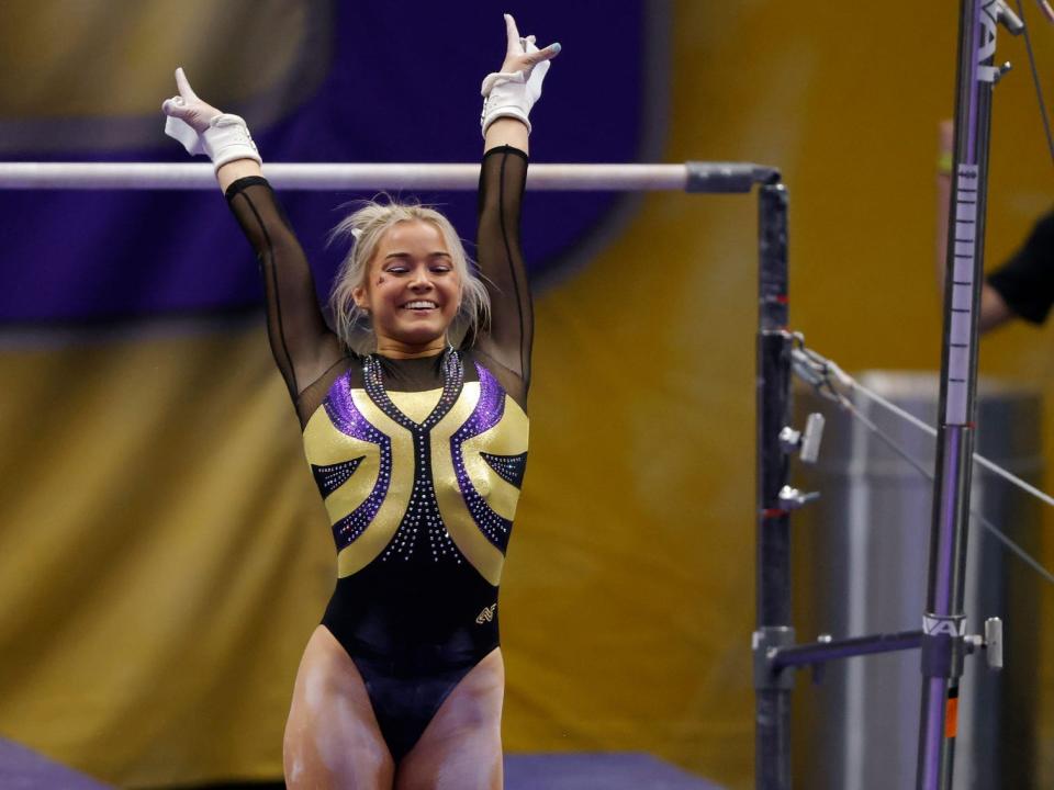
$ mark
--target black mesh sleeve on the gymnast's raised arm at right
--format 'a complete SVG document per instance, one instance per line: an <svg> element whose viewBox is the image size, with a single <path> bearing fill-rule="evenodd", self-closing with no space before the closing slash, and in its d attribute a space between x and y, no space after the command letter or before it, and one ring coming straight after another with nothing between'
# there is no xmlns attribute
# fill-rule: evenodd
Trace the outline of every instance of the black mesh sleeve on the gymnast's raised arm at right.
<svg viewBox="0 0 1054 790"><path fill-rule="evenodd" d="M476 349L523 382L530 383L534 312L527 269L519 247L519 211L527 181L527 155L516 148L492 148L480 169L480 224L476 259L491 294L491 323Z"/></svg>

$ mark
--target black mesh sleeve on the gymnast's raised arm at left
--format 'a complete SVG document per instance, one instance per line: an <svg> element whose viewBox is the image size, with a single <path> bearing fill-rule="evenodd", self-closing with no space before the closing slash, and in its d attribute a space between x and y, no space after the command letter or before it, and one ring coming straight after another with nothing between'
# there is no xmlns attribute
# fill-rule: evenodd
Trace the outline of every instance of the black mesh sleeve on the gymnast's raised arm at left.
<svg viewBox="0 0 1054 790"><path fill-rule="evenodd" d="M267 296L271 351L293 403L344 353L323 319L311 267L270 184L260 177L238 179L227 204L256 250Z"/></svg>

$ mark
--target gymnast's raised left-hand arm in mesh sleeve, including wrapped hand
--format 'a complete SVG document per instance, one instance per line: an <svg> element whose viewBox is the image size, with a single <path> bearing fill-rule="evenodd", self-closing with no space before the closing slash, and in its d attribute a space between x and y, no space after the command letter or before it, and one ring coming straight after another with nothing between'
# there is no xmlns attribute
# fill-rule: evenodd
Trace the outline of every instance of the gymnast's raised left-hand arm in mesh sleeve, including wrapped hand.
<svg viewBox="0 0 1054 790"><path fill-rule="evenodd" d="M285 214L264 179L260 157L237 115L221 113L194 94L182 69L179 95L161 109L166 133L191 154L206 154L231 211L256 251L267 297L274 361L294 403L307 385L341 359L343 350L318 308L314 279Z"/></svg>

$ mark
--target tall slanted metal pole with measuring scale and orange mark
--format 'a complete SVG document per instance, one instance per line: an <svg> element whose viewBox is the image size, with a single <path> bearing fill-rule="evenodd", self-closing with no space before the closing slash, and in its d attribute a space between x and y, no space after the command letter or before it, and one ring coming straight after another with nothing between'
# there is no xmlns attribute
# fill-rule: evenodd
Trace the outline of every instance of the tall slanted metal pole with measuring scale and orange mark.
<svg viewBox="0 0 1054 790"><path fill-rule="evenodd" d="M916 775L919 790L950 788L955 756L958 679L966 635L963 596L977 384L977 307L985 242L991 88L1000 74L993 67L1000 5L998 0L963 0L960 11L938 475L922 618L922 708Z"/></svg>

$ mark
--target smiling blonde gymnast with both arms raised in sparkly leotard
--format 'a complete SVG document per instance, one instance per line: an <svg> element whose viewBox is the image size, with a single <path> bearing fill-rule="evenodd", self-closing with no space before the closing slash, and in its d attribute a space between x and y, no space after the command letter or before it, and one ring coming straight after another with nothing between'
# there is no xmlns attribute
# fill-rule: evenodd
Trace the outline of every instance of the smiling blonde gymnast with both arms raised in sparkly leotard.
<svg viewBox="0 0 1054 790"><path fill-rule="evenodd" d="M483 81L478 257L438 212L369 202L330 329L245 122L182 70L166 132L204 153L256 251L271 350L337 545L285 725L289 787L500 788L497 590L527 459L532 315L519 247L528 113L549 60L505 16ZM463 339L460 339L463 337Z"/></svg>

